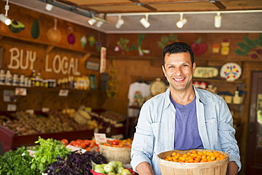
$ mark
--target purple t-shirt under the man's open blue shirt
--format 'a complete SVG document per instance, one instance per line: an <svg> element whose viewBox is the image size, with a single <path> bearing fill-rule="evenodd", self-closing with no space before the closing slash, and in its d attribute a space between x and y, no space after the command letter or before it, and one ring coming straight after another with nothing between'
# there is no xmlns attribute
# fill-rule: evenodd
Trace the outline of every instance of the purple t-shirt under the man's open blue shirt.
<svg viewBox="0 0 262 175"><path fill-rule="evenodd" d="M176 108L175 142L174 149L203 149L203 143L198 132L195 99L186 106L173 101Z"/></svg>

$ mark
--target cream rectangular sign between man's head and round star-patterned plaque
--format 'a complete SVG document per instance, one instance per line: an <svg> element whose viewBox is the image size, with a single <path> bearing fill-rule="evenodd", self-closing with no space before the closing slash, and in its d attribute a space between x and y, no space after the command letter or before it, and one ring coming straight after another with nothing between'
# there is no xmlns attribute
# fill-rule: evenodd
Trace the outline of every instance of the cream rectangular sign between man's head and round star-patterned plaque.
<svg viewBox="0 0 262 175"><path fill-rule="evenodd" d="M218 76L219 70L217 67L196 67L194 78L215 78Z"/></svg>

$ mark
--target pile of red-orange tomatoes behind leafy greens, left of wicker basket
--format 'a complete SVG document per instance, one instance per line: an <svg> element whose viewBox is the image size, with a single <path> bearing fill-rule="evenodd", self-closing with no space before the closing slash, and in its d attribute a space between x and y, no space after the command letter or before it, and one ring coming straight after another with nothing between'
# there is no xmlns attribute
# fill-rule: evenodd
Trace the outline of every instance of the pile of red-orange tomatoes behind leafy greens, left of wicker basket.
<svg viewBox="0 0 262 175"><path fill-rule="evenodd" d="M98 145L96 145L96 140L72 140L70 142L68 142L67 139L62 139L61 142L64 144L64 146L67 145L72 145L74 147L80 147L81 149L86 149L86 151L91 151L92 148L94 147L98 147Z"/></svg>

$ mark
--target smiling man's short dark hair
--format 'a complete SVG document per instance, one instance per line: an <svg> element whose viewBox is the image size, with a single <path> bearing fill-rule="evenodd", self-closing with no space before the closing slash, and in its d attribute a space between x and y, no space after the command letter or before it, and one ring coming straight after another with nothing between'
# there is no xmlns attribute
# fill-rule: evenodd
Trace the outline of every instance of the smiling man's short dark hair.
<svg viewBox="0 0 262 175"><path fill-rule="evenodd" d="M166 47L164 47L163 55L162 55L163 66L165 65L166 53L171 55L173 53L183 53L183 52L190 53L190 60L193 65L193 63L195 62L195 58L194 58L193 50L191 49L190 45L188 45L187 43L183 43L183 42L175 42L175 43L171 43L170 45L166 45Z"/></svg>

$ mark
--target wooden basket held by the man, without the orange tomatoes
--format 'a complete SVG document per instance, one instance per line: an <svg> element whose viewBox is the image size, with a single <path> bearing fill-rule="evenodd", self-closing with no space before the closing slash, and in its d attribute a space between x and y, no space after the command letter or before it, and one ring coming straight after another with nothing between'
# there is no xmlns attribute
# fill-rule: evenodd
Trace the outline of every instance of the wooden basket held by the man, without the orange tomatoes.
<svg viewBox="0 0 262 175"><path fill-rule="evenodd" d="M220 152L226 158L222 160L217 160L214 162L200 162L200 163L181 163L181 162L169 162L164 160L163 158L171 155L172 152L179 152L180 154L185 154L186 152L191 152L190 150L171 150L168 152L161 152L158 154L159 158L159 166L161 169L162 175L225 175L227 173L227 164L229 162L229 154L227 152ZM204 150L207 152L215 152L215 150L211 149L195 149L198 152L203 152Z"/></svg>

